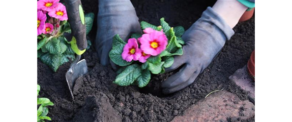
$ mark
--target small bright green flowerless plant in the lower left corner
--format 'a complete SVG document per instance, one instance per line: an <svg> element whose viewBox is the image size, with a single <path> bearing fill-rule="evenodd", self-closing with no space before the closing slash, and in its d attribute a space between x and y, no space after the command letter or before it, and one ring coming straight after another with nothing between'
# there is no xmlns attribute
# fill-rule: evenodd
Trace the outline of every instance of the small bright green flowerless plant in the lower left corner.
<svg viewBox="0 0 292 122"><path fill-rule="evenodd" d="M40 85L38 85L38 96L40 93L41 87ZM47 116L47 114L49 113L49 109L47 108L47 106L53 106L54 103L52 103L48 98L38 98L38 102L37 102L37 106L38 108L38 122L44 122L45 120L51 120L51 118L49 116Z"/></svg>

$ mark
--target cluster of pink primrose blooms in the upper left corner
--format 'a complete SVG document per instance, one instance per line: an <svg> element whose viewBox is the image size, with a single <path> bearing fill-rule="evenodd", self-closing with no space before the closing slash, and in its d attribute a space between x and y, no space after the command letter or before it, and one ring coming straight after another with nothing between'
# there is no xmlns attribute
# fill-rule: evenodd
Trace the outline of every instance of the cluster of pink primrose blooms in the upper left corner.
<svg viewBox="0 0 292 122"><path fill-rule="evenodd" d="M60 21L68 20L66 7L59 3L60 0L39 0L37 2L37 35L40 35L42 33L49 34L53 32L55 24L56 27L59 27ZM55 23L52 20L52 18L48 19L47 21L47 14L49 17L59 19L59 21L56 21Z"/></svg>

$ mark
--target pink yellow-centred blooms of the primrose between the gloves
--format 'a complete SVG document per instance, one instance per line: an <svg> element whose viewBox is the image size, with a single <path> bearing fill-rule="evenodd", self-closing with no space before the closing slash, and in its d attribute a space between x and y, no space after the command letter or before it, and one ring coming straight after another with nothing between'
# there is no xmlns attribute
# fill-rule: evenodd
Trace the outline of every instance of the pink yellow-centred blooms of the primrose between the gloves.
<svg viewBox="0 0 292 122"><path fill-rule="evenodd" d="M150 56L157 56L166 49L167 37L163 32L152 28L145 28L143 34L138 39L130 38L128 44L125 45L122 58L127 62L139 60L145 63ZM139 48L139 45L140 48Z"/></svg>

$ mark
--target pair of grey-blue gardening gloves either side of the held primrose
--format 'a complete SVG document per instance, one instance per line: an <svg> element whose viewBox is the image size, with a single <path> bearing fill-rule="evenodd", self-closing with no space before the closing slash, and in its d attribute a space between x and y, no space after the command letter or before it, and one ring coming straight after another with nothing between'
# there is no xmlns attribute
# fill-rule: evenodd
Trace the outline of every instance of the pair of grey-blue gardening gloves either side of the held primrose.
<svg viewBox="0 0 292 122"><path fill-rule="evenodd" d="M127 40L132 33L142 33L135 9L129 0L99 0L98 30L95 46L102 65L111 64L109 51L112 38L119 34ZM211 8L207 8L182 36L184 54L174 57L166 71L180 70L162 82L164 94L180 91L194 82L196 77L212 62L234 31Z"/></svg>

